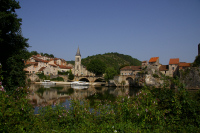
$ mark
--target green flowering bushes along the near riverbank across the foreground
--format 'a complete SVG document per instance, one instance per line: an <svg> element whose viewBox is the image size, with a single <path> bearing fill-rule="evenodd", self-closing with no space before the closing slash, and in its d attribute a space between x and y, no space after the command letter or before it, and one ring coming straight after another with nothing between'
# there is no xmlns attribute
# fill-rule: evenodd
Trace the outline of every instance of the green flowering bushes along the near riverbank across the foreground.
<svg viewBox="0 0 200 133"><path fill-rule="evenodd" d="M9 95L1 86L0 132L199 132L200 91L191 95L178 79L175 89L144 87L115 102L71 99L70 108L40 107L34 115L29 88Z"/></svg>

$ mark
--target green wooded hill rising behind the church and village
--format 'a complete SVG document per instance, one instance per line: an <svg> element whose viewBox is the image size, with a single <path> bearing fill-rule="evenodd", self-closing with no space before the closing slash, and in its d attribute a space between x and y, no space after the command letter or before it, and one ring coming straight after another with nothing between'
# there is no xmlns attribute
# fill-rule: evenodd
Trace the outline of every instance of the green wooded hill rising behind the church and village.
<svg viewBox="0 0 200 133"><path fill-rule="evenodd" d="M106 63L107 67L114 67L116 70L119 70L121 66L124 65L133 65L139 66L141 65L141 61L135 59L129 55L119 54L119 53L105 53L103 55L93 55L88 56L87 58L82 59L82 64L87 66L87 64L92 59L100 59L101 61Z"/></svg>

